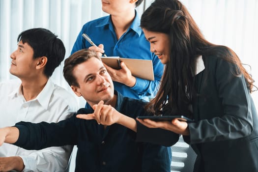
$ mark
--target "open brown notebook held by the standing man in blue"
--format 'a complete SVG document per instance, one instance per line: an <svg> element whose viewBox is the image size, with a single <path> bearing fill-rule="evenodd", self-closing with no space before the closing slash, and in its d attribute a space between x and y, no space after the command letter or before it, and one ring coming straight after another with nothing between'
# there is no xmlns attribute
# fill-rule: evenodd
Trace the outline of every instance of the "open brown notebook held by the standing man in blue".
<svg viewBox="0 0 258 172"><path fill-rule="evenodd" d="M114 69L120 69L120 62L123 61L133 76L154 81L152 60L121 57L101 57L101 59L103 63Z"/></svg>

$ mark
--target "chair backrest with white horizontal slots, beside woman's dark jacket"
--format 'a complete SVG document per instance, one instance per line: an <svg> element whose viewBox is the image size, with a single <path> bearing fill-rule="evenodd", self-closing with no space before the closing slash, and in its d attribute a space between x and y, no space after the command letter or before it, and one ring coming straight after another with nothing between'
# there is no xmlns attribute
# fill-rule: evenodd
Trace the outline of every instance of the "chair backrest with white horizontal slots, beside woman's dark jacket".
<svg viewBox="0 0 258 172"><path fill-rule="evenodd" d="M180 136L177 143L171 146L171 172L193 172L197 154Z"/></svg>

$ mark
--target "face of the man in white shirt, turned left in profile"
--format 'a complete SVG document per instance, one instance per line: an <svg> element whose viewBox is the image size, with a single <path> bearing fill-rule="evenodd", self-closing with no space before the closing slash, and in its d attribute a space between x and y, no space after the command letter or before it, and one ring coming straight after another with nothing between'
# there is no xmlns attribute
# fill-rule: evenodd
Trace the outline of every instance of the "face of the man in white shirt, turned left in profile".
<svg viewBox="0 0 258 172"><path fill-rule="evenodd" d="M33 77L35 75L35 66L38 60L33 59L33 49L27 43L20 41L11 54L10 73L20 79Z"/></svg>

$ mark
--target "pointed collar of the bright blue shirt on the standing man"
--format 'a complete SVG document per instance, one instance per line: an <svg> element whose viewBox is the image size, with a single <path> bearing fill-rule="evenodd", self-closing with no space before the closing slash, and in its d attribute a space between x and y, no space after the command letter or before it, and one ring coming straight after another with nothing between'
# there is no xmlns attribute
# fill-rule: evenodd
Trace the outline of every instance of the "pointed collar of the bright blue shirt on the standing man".
<svg viewBox="0 0 258 172"><path fill-rule="evenodd" d="M109 15L109 17L106 17L102 22L100 22L98 25L96 25L96 27L103 27L106 25L109 25L110 28L113 28L113 24L111 21L111 15ZM139 36L141 36L141 34L142 34L142 29L140 27L140 18L139 18L139 15L136 10L135 10L135 18L129 29L134 30Z"/></svg>

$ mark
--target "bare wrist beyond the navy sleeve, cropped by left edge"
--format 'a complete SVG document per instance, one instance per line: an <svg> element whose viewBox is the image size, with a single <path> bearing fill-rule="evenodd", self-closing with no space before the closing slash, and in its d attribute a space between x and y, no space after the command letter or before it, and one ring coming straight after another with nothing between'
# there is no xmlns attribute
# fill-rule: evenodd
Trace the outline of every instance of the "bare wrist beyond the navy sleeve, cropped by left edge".
<svg viewBox="0 0 258 172"><path fill-rule="evenodd" d="M4 143L15 143L19 138L19 130L16 127L4 127L0 129L0 145Z"/></svg>

